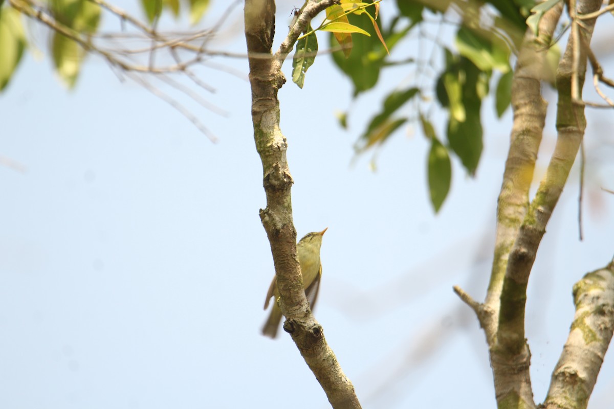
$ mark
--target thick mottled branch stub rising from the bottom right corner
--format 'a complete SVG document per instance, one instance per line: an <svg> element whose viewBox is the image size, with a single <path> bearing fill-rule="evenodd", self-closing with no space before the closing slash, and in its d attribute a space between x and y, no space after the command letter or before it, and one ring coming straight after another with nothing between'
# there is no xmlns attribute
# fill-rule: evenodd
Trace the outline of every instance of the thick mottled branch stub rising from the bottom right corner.
<svg viewBox="0 0 614 409"><path fill-rule="evenodd" d="M547 409L586 408L614 331L614 261L573 286L569 337L552 373Z"/></svg>

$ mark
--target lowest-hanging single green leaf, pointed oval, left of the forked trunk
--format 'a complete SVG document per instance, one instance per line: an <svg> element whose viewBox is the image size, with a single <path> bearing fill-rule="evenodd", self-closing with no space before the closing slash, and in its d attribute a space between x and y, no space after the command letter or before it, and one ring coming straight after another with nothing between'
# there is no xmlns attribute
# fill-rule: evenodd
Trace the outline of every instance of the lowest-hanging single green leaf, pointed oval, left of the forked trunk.
<svg viewBox="0 0 614 409"><path fill-rule="evenodd" d="M450 190L452 166L448 150L441 145L437 137L433 137L431 141L428 164L429 191L430 202L437 213Z"/></svg>

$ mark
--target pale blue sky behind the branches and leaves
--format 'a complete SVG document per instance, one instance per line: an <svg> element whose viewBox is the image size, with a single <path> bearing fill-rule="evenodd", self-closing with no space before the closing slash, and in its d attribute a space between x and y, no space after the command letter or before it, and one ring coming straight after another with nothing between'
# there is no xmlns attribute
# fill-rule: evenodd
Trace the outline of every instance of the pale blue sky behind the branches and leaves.
<svg viewBox="0 0 614 409"><path fill-rule="evenodd" d="M293 6L278 2L276 46ZM241 17L238 7L220 48L244 52ZM46 54L44 31L33 32ZM395 53L414 50L406 41ZM214 61L247 75L243 59ZM273 262L258 218L265 196L249 83L199 70L217 92L199 91L229 118L174 93L216 134L213 144L99 58L88 59L73 91L50 67L46 55L26 54L0 95L0 155L26 168L0 166L0 407L328 407L290 337L260 335ZM398 132L379 151L376 172L370 154L350 165L374 107L411 72L386 72L352 105L349 132L333 114L347 109L351 87L328 56L316 59L303 90L289 82L279 93L297 233L328 227L316 317L363 407L494 407L483 334L451 287L483 299L511 116L497 121L492 101L484 103L476 178L455 161L450 196L434 216L418 130ZM540 172L553 147L553 109ZM573 283L614 253L614 196L599 190L614 189L605 115L589 114L585 241L577 239L575 167L530 281L539 402L572 319ZM608 355L589 408L609 407L613 385Z"/></svg>

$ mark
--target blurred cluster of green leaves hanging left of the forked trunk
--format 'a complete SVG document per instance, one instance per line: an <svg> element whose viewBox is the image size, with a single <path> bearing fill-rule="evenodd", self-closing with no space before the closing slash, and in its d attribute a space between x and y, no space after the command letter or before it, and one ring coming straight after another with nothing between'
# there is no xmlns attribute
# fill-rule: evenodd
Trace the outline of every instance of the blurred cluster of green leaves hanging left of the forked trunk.
<svg viewBox="0 0 614 409"><path fill-rule="evenodd" d="M523 40L527 17L532 11L543 15L546 7L552 7L556 1L548 1L550 4L539 10L532 10L534 3L534 0L396 0L397 14L382 29L391 50L410 36L427 41L424 32L433 34L433 23L437 21L446 25L456 22L456 35L451 47L445 47L443 39L430 39L434 47L443 52L436 64L424 61L423 57L406 55L401 61L395 61L394 57L383 52L383 47L373 36L356 38L354 51L348 59L343 58L341 52L333 53L336 66L352 82L355 98L373 88L387 66L407 64L415 67L417 73L409 88L407 78L402 78L403 82L384 97L380 112L371 118L367 129L360 134L355 144L356 153L381 147L403 124L421 123L422 131L431 141L426 152L428 184L430 199L437 212L449 191L450 158L456 158L468 175L475 175L478 169L483 150L481 105L484 98L492 90L494 112L498 117L510 106L510 61ZM392 7L386 7L386 10L392 12ZM541 15L531 17L537 24ZM349 22L370 30L370 22L361 16L351 15ZM430 28L425 26L429 24ZM333 39L330 40L333 45ZM553 53L553 58L556 57ZM437 69L438 74L426 77L426 64L431 71ZM495 84L491 84L493 80ZM435 99L431 97L433 94ZM441 139L424 116L424 112L433 112L432 101L438 102L447 117L441 129L445 137ZM351 115L343 113L339 117L343 118L344 127L348 126Z"/></svg>

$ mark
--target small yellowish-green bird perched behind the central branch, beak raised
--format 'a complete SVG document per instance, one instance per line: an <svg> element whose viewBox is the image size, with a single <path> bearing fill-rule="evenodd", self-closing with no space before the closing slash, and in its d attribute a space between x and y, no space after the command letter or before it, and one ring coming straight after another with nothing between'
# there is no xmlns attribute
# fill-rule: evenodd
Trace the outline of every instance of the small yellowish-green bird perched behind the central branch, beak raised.
<svg viewBox="0 0 614 409"><path fill-rule="evenodd" d="M322 246L322 235L327 231L308 233L297 243L298 263L301 265L303 274L303 288L305 296L309 300L311 309L316 305L317 292L320 289L320 277L322 277L322 263L320 262L320 247ZM281 323L281 309L277 304L279 291L277 289L277 277L273 277L269 291L266 293L265 310L268 304L274 297L273 309L269 318L266 320L265 326L262 327L262 334L267 337L275 338Z"/></svg>

